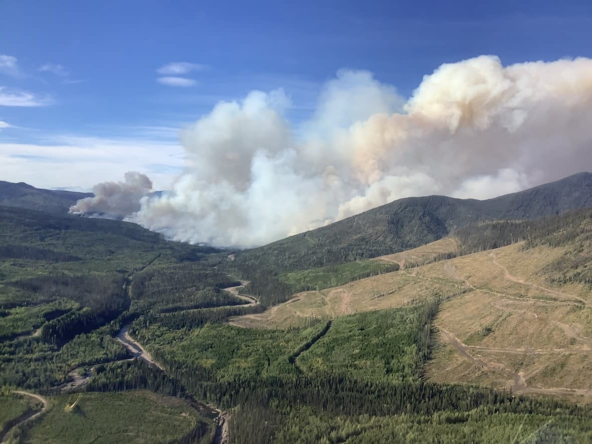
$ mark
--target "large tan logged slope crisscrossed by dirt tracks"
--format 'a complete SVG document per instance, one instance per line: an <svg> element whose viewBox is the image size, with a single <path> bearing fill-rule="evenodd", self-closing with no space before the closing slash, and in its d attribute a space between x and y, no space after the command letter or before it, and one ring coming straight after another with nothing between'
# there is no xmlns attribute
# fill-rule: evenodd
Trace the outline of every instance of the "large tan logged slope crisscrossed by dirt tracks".
<svg viewBox="0 0 592 444"><path fill-rule="evenodd" d="M436 249L441 252L441 246ZM590 402L592 292L583 284L549 284L541 272L564 252L563 247L525 250L514 244L299 293L265 313L232 323L285 327L307 316L399 307L439 295L430 379Z"/></svg>

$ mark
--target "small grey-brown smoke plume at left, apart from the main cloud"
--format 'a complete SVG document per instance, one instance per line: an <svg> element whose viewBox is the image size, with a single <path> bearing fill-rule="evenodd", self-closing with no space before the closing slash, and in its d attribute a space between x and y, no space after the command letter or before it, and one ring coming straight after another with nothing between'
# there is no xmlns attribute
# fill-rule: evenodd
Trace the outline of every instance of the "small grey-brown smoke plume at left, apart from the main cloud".
<svg viewBox="0 0 592 444"><path fill-rule="evenodd" d="M140 210L140 199L152 189L152 182L145 174L126 173L124 182L102 182L92 188L94 197L87 197L70 207L70 213L101 215L123 219Z"/></svg>

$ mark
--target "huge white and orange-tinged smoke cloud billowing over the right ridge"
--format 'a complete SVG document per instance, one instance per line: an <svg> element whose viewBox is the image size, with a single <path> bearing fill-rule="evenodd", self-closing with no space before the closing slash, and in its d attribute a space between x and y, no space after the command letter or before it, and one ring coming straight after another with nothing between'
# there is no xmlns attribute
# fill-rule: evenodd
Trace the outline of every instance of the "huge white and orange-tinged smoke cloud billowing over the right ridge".
<svg viewBox="0 0 592 444"><path fill-rule="evenodd" d="M182 133L186 167L170 193L142 198L129 220L252 246L402 197L488 198L592 167L590 59L446 64L408 101L342 70L310 121L291 126L289 106L282 91L216 105Z"/></svg>

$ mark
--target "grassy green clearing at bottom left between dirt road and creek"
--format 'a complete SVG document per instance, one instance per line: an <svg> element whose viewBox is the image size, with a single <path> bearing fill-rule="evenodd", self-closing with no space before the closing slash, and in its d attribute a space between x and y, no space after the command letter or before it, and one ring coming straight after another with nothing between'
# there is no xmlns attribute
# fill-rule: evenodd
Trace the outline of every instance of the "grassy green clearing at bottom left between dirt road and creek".
<svg viewBox="0 0 592 444"><path fill-rule="evenodd" d="M43 418L22 432L28 443L163 443L178 442L194 429L211 435L213 423L178 398L146 391L84 393L54 397ZM209 442L209 441L204 441Z"/></svg>

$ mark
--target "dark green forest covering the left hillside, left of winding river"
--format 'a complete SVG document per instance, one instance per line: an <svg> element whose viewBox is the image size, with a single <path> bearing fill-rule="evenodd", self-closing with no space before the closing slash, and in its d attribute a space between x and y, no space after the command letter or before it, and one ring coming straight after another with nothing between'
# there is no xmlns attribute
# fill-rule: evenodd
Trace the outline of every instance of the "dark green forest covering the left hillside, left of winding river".
<svg viewBox="0 0 592 444"><path fill-rule="evenodd" d="M141 314L239 305L211 247L120 221L0 207L0 385L50 390L128 357L114 339ZM237 313L238 314L238 313Z"/></svg>

